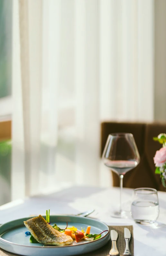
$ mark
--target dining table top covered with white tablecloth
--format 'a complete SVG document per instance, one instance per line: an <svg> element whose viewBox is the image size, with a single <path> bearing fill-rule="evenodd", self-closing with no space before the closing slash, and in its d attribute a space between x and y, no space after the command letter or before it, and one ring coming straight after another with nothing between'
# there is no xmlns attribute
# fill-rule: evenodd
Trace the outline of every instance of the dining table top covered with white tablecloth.
<svg viewBox="0 0 166 256"><path fill-rule="evenodd" d="M133 225L134 256L166 255L166 193L158 191L160 214L153 224L139 224L131 216L133 189L123 188L123 209L127 218L110 216L112 209L119 207L120 190L118 187L71 186L50 194L40 194L18 199L0 206L0 223L45 215L77 215L86 210L95 209L88 218L98 219L107 225ZM85 217L87 218L87 217Z"/></svg>

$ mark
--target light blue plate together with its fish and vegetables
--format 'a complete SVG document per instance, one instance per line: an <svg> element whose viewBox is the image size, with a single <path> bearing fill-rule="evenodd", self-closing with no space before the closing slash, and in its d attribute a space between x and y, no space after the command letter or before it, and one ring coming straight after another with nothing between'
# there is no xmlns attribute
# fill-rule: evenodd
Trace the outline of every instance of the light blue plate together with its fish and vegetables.
<svg viewBox="0 0 166 256"><path fill-rule="evenodd" d="M50 216L50 220L47 217L3 224L0 247L27 256L69 256L97 250L109 241L108 226L98 220L68 215Z"/></svg>

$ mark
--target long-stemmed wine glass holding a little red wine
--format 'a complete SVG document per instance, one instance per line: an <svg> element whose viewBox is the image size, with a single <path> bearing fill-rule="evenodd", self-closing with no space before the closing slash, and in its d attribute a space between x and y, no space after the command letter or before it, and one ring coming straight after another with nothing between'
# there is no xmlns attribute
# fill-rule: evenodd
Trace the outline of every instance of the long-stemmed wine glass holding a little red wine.
<svg viewBox="0 0 166 256"><path fill-rule="evenodd" d="M111 133L102 155L104 164L120 177L120 210L111 214L115 218L126 218L122 210L123 177L140 162L140 155L132 133Z"/></svg>

